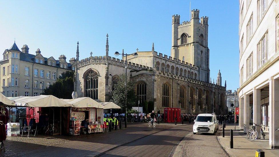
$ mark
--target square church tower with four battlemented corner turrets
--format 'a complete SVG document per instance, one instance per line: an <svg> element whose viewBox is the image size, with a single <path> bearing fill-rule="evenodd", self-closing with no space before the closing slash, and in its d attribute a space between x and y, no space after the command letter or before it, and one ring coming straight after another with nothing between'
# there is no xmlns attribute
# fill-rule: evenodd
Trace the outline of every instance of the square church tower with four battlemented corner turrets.
<svg viewBox="0 0 279 157"><path fill-rule="evenodd" d="M208 17L191 11L190 21L180 23L180 15L172 16L171 56L200 68L200 80L209 82Z"/></svg>

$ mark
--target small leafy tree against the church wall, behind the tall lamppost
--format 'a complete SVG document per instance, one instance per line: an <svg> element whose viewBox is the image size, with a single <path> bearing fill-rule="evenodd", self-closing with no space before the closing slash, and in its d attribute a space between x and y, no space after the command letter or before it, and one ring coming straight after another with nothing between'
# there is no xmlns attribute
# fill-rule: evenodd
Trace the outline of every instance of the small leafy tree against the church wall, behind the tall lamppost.
<svg viewBox="0 0 279 157"><path fill-rule="evenodd" d="M125 74L120 74L119 81L113 85L111 102L120 106L122 111L125 111ZM127 80L127 110L136 104L135 83Z"/></svg>

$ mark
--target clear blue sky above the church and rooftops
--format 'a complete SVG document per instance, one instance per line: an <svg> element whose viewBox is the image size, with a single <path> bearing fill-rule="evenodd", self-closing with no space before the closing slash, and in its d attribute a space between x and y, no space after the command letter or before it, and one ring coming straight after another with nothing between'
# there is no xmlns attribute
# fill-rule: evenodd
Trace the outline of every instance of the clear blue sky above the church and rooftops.
<svg viewBox="0 0 279 157"><path fill-rule="evenodd" d="M179 2L179 3L178 3ZM67 60L75 57L79 41L80 59L109 55L124 49L132 53L155 51L170 55L172 15L189 21L189 0L184 1L0 1L0 50L27 44L29 53L40 48L43 56ZM238 0L192 0L191 9L209 17L210 75L222 73L222 85L239 87Z"/></svg>

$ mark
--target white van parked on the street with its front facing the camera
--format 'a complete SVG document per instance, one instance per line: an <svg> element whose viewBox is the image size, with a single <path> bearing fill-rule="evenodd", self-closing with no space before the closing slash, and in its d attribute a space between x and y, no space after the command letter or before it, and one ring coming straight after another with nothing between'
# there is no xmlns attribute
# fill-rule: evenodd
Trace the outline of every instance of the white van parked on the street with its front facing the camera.
<svg viewBox="0 0 279 157"><path fill-rule="evenodd" d="M212 133L214 134L219 129L219 121L215 113L212 114L199 114L194 120L193 134L199 133Z"/></svg>

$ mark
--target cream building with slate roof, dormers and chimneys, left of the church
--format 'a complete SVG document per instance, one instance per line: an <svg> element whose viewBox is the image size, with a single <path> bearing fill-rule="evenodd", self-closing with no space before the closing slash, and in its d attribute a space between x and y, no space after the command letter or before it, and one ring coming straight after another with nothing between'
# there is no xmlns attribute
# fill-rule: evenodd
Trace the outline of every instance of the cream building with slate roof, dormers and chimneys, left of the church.
<svg viewBox="0 0 279 157"><path fill-rule="evenodd" d="M45 58L40 49L33 55L27 45L20 51L14 43L4 51L0 69L0 92L5 96L38 96L56 82L61 73L75 70L75 58L71 58L70 63L66 62L65 55L60 55L58 60Z"/></svg>

